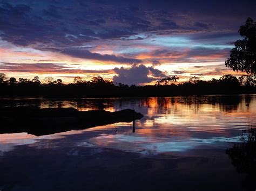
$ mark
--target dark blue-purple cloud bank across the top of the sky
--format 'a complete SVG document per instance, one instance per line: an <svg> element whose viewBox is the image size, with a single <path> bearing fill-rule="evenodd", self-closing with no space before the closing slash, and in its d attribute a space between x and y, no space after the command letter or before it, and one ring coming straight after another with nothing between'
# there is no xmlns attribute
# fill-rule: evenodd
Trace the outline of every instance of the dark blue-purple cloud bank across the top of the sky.
<svg viewBox="0 0 256 191"><path fill-rule="evenodd" d="M19 3L22 2L22 3ZM226 7L229 9L225 9ZM203 9L202 9L203 8ZM218 9L217 9L218 8ZM19 45L36 42L71 44L65 34L82 38L95 36L102 39L117 38L137 34L139 31L152 30L188 30L193 26L210 29L213 24L223 25L219 19L223 15L240 18L242 22L248 16L255 16L253 1L5 1L0 4L0 26L5 33L4 40ZM185 12L196 13L192 18L194 25ZM211 23L202 21L202 12L214 16ZM215 16L216 12L218 15ZM195 15L195 14L193 14ZM179 20L183 24L178 24ZM225 20L225 19L223 19ZM239 21L240 22L240 21ZM237 25L233 21L226 27ZM193 28L194 29L194 28ZM85 39L83 39L85 40ZM91 39L87 39L91 40ZM78 40L79 41L79 40Z"/></svg>

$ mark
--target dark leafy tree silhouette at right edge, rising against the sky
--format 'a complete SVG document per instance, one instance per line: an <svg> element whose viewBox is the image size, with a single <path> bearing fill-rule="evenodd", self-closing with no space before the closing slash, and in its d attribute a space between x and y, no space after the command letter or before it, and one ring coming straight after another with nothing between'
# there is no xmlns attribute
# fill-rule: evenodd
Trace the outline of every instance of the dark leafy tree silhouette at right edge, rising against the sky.
<svg viewBox="0 0 256 191"><path fill-rule="evenodd" d="M238 31L242 40L235 42L235 47L230 52L230 58L225 62L226 67L233 71L245 72L248 75L256 74L256 22L247 18L245 25Z"/></svg>

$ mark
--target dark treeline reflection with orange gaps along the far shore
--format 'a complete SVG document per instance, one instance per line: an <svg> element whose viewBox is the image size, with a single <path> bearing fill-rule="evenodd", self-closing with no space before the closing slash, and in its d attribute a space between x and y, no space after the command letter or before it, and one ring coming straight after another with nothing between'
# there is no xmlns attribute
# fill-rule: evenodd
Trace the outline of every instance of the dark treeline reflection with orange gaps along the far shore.
<svg viewBox="0 0 256 191"><path fill-rule="evenodd" d="M150 98L78 98L78 99L55 99L55 98L2 98L0 107L33 106L39 108L67 108L78 110L96 109L113 110L123 108L127 104L137 105L141 108L157 108L157 112L166 112L177 104L186 105L198 110L205 104L218 105L221 111L237 109L240 102L250 104L252 95L231 96L177 96L177 97L150 97Z"/></svg>

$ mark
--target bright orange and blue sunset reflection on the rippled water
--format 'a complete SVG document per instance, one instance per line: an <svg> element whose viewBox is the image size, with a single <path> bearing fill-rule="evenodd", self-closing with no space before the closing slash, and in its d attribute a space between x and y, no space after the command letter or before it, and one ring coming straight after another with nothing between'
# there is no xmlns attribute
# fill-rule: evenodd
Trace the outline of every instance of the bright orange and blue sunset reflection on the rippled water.
<svg viewBox="0 0 256 191"><path fill-rule="evenodd" d="M101 98L78 100L4 99L1 107L36 105L40 108L74 107L78 110L134 109L144 115L133 123L116 123L87 130L33 137L25 133L0 135L0 150L15 145L57 147L85 145L157 154L193 149L225 149L240 142L241 130L256 123L256 96L180 96L150 98ZM65 144L64 144L65 143ZM9 146L6 146L9 145Z"/></svg>

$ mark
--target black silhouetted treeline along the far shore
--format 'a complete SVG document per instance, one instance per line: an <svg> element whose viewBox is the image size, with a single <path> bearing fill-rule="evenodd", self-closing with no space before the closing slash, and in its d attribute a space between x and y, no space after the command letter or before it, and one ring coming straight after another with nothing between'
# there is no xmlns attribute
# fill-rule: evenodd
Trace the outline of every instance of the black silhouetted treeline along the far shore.
<svg viewBox="0 0 256 191"><path fill-rule="evenodd" d="M214 95L214 94L254 94L256 93L255 77L243 75L235 77L224 75L210 81L191 77L187 82L177 83L178 77L172 76L159 80L154 85L128 86L126 84L93 77L84 81L75 77L73 83L64 84L61 79L46 77L41 83L36 76L32 80L15 77L6 80L0 74L0 96L40 96L40 97L154 97L176 95Z"/></svg>

